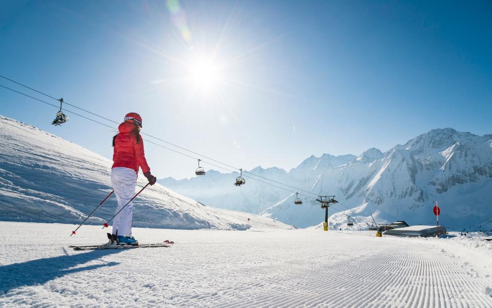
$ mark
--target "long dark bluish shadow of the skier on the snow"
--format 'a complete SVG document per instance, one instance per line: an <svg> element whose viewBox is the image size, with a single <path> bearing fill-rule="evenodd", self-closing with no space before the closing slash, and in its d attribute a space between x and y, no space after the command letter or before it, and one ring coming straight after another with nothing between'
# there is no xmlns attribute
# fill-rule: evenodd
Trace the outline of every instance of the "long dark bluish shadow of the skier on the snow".
<svg viewBox="0 0 492 308"><path fill-rule="evenodd" d="M0 266L0 295L19 286L41 284L64 275L120 264L100 260L98 264L78 266L121 251L121 249L95 250L88 253L36 259Z"/></svg>

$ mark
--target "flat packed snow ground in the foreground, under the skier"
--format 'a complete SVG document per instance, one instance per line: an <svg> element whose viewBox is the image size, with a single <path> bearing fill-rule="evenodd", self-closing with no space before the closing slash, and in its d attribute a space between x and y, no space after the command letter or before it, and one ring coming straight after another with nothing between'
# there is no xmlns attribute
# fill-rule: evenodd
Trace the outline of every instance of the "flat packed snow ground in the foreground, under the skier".
<svg viewBox="0 0 492 308"><path fill-rule="evenodd" d="M0 222L0 306L492 307L492 243L318 229L134 228L174 246L76 252L103 230Z"/></svg>

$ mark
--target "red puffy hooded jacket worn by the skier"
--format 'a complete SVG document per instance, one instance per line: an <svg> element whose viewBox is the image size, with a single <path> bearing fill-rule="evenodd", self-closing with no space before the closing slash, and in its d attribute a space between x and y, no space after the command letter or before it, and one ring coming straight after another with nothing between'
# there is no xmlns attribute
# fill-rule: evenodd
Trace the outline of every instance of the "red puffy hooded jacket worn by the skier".
<svg viewBox="0 0 492 308"><path fill-rule="evenodd" d="M127 167L138 173L139 167L142 167L142 172L150 171L145 159L144 141L139 134L140 142L136 142L135 129L135 124L129 122L123 122L118 127L120 133L114 139L113 166L111 168Z"/></svg>

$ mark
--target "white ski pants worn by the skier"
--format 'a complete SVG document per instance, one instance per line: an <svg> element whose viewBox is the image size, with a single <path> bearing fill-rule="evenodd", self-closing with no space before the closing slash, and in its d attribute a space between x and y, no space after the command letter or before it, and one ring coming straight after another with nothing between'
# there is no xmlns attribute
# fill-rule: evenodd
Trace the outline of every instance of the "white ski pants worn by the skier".
<svg viewBox="0 0 492 308"><path fill-rule="evenodd" d="M126 167L115 167L111 170L111 184L114 194L118 199L116 213L135 196L137 174L135 170ZM133 222L132 203L128 204L113 221L113 233L123 236L131 236ZM117 233L116 233L117 232Z"/></svg>

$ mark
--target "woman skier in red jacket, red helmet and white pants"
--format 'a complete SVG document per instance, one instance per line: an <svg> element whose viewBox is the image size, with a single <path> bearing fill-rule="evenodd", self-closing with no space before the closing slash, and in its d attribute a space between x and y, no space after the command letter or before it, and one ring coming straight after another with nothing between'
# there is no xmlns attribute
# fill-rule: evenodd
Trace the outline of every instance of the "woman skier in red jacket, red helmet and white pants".
<svg viewBox="0 0 492 308"><path fill-rule="evenodd" d="M150 174L150 168L145 159L144 141L140 136L142 118L138 113L130 112L125 115L125 121L118 127L119 133L113 137L113 166L111 167L111 184L118 200L116 213L135 195L135 185L139 168L144 176L154 185L157 180ZM133 221L132 204L129 203L114 218L110 243L137 244L131 236Z"/></svg>

